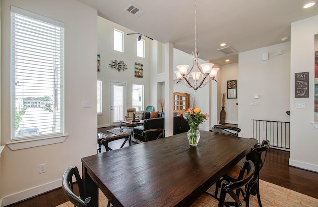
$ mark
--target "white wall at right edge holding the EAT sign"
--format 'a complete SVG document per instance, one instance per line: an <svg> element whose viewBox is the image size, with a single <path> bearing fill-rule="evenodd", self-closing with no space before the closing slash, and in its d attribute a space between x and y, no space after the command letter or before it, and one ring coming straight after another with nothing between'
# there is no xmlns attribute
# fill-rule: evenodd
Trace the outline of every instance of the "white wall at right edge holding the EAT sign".
<svg viewBox="0 0 318 207"><path fill-rule="evenodd" d="M289 164L318 172L318 129L314 121L314 36L318 34L318 16L291 24L291 153ZM294 98L294 74L309 71L309 98ZM296 108L299 102L305 108Z"/></svg>

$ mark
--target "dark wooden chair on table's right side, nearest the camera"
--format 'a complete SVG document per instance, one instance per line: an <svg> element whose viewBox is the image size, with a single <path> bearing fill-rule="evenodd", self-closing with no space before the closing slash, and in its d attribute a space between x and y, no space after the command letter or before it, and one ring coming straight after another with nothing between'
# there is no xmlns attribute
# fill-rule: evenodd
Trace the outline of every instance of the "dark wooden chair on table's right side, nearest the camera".
<svg viewBox="0 0 318 207"><path fill-rule="evenodd" d="M244 161L241 167L241 172L241 179L237 180L236 182L222 183L220 198L217 198L215 195L205 192L190 207L242 206L246 194L243 195L243 197L239 197L239 194L235 193L235 191L244 186L249 186L249 182L252 180L255 172L254 163L251 160ZM246 176L243 176L244 174ZM234 201L225 201L227 194L229 194L234 199Z"/></svg>

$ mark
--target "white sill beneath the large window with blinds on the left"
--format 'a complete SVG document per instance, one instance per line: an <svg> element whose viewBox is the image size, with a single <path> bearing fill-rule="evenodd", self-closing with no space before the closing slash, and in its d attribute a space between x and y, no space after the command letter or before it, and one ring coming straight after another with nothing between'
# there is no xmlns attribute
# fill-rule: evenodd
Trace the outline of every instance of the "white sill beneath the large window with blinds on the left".
<svg viewBox="0 0 318 207"><path fill-rule="evenodd" d="M8 142L6 143L6 145L11 150L19 150L19 149L39 147L39 146L44 146L49 144L62 143L65 141L66 138L67 138L67 135L62 135L62 136L55 136L50 138L18 140L18 141Z"/></svg>

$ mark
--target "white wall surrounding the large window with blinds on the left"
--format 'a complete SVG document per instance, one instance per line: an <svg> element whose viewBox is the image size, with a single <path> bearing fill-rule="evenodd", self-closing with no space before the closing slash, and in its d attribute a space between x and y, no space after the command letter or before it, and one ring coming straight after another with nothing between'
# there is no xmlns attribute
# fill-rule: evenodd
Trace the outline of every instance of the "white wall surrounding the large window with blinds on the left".
<svg viewBox="0 0 318 207"><path fill-rule="evenodd" d="M1 163L3 205L61 186L63 172L81 158L96 154L97 10L76 0L2 0L2 144L10 142L10 5L65 24L65 133L63 143L12 151L4 148ZM83 100L90 108L82 108ZM39 164L46 172L39 174Z"/></svg>

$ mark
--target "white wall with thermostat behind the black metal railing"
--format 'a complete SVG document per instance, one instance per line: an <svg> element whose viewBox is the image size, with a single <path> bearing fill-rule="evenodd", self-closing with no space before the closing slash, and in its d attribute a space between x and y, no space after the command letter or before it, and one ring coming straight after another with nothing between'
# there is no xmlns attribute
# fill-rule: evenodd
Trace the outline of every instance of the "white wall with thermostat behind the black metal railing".
<svg viewBox="0 0 318 207"><path fill-rule="evenodd" d="M282 55L276 55L279 50ZM263 61L265 52L269 59ZM259 99L254 99L254 95L259 95ZM289 122L286 111L290 109L290 42L239 53L238 97L243 137L252 137L252 119ZM258 106L250 106L251 102Z"/></svg>

